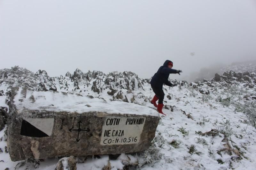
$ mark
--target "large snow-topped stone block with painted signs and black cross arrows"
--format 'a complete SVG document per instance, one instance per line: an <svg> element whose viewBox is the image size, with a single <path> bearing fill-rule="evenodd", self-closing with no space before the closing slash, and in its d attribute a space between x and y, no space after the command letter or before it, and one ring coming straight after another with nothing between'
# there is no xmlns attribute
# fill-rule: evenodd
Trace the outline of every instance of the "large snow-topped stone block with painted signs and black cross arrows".
<svg viewBox="0 0 256 170"><path fill-rule="evenodd" d="M140 152L158 122L155 109L137 104L14 87L7 145L12 161Z"/></svg>

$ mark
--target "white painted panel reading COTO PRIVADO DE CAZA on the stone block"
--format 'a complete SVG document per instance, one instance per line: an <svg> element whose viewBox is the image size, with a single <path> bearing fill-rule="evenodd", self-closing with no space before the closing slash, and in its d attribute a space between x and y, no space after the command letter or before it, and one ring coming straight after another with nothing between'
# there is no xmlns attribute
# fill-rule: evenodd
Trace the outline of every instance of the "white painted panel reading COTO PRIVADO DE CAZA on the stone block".
<svg viewBox="0 0 256 170"><path fill-rule="evenodd" d="M101 145L137 144L145 117L106 117L102 126Z"/></svg>

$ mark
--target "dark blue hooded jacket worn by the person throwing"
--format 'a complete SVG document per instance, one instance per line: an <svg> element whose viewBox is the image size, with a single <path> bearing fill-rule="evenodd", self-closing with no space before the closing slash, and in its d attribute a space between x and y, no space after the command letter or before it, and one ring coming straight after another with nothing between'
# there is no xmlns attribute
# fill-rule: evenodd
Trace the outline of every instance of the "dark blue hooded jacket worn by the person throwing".
<svg viewBox="0 0 256 170"><path fill-rule="evenodd" d="M172 86L172 83L168 81L169 74L177 73L177 70L168 68L170 60L166 60L164 64L157 70L153 78L150 81L151 86L163 88L163 84Z"/></svg>

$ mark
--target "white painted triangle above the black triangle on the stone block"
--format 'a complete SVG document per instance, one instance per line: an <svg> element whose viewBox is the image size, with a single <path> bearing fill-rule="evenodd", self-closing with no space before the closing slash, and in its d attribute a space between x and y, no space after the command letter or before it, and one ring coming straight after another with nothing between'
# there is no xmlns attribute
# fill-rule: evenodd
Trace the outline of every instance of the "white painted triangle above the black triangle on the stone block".
<svg viewBox="0 0 256 170"><path fill-rule="evenodd" d="M25 121L35 126L48 136L52 135L52 129L54 124L54 118L25 118Z"/></svg>

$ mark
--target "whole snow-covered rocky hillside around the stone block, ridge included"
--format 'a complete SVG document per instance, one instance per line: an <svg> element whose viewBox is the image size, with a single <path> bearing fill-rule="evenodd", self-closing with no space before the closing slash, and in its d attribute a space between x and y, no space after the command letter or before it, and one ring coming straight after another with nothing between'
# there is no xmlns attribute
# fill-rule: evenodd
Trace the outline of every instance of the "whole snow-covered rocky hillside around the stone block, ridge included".
<svg viewBox="0 0 256 170"><path fill-rule="evenodd" d="M170 76L171 77L171 76ZM256 165L256 74L224 72L212 80L187 83L171 80L164 86L164 109L156 136L144 152L121 155L74 157L77 169L254 169ZM0 167L2 169L54 169L58 160L28 159L12 162L6 148L8 104L12 86L36 91L59 91L91 95L153 107L149 79L135 73L100 71L49 77L20 68L0 70ZM2 121L2 123L1 123ZM69 157L71 155L67 155ZM74 155L75 156L75 155ZM63 160L62 160L63 159Z"/></svg>

